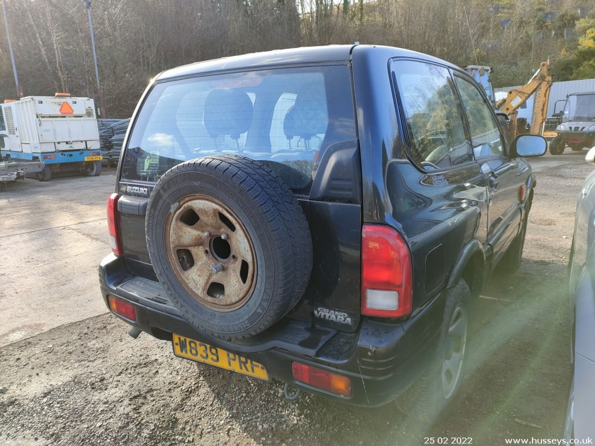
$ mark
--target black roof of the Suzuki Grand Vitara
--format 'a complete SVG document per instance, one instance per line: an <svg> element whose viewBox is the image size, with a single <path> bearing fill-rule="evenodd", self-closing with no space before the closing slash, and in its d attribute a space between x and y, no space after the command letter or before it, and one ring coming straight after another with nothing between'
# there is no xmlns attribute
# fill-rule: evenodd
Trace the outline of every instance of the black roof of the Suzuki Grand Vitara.
<svg viewBox="0 0 595 446"><path fill-rule="evenodd" d="M403 48L393 48L382 45L325 45L303 46L301 48L275 49L273 51L242 54L222 57L208 61L194 62L180 67L165 70L155 80L165 80L193 76L200 73L211 73L227 70L241 70L245 68L270 67L287 64L312 64L316 62L348 62L353 51L377 53L378 55L393 57L411 57L437 62L452 68L456 65L439 58L411 51Z"/></svg>

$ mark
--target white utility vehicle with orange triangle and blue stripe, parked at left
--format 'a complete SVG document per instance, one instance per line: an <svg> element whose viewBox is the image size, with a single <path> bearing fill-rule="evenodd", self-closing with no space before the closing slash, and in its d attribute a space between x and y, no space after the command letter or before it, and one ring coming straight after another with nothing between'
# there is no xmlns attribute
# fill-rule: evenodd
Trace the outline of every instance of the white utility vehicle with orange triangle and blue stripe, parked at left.
<svg viewBox="0 0 595 446"><path fill-rule="evenodd" d="M43 162L36 173L40 181L61 171L101 174L93 99L56 93L5 100L0 105L0 155L5 161Z"/></svg>

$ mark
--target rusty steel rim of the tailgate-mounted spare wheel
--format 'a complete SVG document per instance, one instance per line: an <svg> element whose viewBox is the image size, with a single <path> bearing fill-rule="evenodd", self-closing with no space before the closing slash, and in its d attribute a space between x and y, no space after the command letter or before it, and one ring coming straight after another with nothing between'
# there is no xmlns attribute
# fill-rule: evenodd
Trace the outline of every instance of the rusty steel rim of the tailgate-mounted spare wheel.
<svg viewBox="0 0 595 446"><path fill-rule="evenodd" d="M256 277L254 246L226 205L202 194L186 196L171 207L164 235L171 268L198 303L227 312L250 298Z"/></svg>

